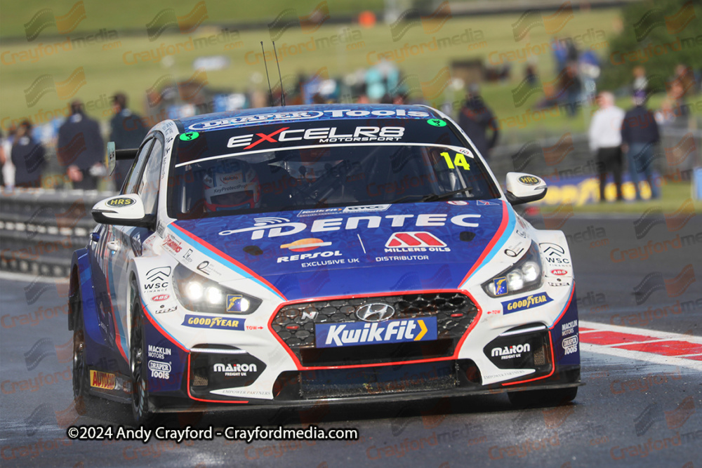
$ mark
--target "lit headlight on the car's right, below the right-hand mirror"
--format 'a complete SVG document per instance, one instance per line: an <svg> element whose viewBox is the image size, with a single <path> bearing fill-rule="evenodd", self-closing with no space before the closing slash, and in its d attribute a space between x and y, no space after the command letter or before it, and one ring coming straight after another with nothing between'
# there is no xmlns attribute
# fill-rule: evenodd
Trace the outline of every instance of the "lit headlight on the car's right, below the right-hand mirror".
<svg viewBox="0 0 702 468"><path fill-rule="evenodd" d="M536 289L541 286L541 279L541 255L536 243L531 242L515 265L484 283L483 289L491 297L501 297Z"/></svg>

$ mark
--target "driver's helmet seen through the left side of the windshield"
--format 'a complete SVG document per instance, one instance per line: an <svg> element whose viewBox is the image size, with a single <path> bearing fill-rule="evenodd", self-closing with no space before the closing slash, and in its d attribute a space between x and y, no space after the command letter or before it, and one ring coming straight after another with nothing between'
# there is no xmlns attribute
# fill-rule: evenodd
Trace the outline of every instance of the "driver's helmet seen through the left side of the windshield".
<svg viewBox="0 0 702 468"><path fill-rule="evenodd" d="M207 211L258 208L261 202L260 182L251 164L228 161L227 167L216 166L204 176L205 209Z"/></svg>

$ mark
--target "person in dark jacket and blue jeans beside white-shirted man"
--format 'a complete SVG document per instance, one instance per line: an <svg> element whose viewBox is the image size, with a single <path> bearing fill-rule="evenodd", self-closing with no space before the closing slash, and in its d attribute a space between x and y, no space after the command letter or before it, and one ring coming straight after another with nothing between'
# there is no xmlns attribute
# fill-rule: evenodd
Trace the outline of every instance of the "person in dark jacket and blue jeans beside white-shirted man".
<svg viewBox="0 0 702 468"><path fill-rule="evenodd" d="M639 173L644 173L651 187L651 198L661 196L653 178L654 145L661 139L654 114L646 108L646 92L634 91L634 107L624 114L621 124L622 149L626 153L629 175L636 189L636 199L641 200Z"/></svg>

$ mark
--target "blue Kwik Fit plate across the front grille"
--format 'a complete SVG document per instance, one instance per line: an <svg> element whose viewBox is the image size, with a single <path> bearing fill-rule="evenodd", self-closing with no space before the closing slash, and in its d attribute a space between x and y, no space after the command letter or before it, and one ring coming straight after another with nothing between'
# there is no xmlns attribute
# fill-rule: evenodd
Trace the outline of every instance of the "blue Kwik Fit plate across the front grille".
<svg viewBox="0 0 702 468"><path fill-rule="evenodd" d="M318 348L431 341L437 339L437 318L374 323L317 323L314 326L314 339Z"/></svg>

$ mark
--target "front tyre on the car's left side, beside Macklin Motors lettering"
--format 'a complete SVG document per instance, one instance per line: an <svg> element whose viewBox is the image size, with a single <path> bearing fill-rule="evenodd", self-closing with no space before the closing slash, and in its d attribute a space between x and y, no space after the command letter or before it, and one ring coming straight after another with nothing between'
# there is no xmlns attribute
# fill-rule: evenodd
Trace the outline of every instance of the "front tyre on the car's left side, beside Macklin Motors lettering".
<svg viewBox="0 0 702 468"><path fill-rule="evenodd" d="M129 340L129 365L132 377L132 414L138 426L150 426L155 418L149 403L144 314L141 310L136 281L132 279L131 283L132 327Z"/></svg>

